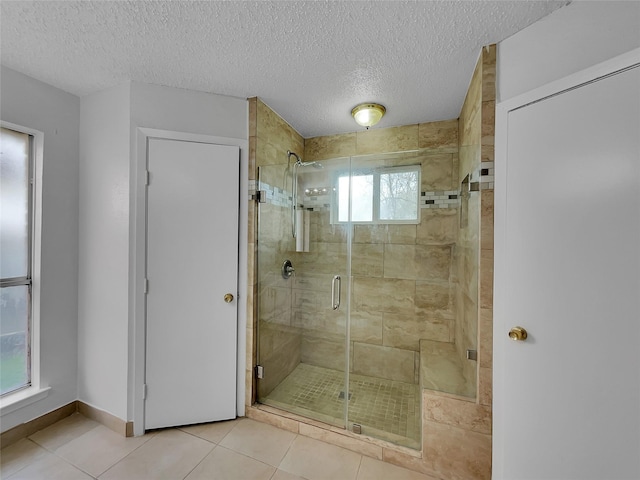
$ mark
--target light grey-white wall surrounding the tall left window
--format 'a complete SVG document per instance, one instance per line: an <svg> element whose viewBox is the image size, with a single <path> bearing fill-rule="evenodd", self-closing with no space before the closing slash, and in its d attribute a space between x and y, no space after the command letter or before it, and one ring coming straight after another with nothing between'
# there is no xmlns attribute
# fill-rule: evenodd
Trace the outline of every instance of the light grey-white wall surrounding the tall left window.
<svg viewBox="0 0 640 480"><path fill-rule="evenodd" d="M44 132L41 370L49 395L2 417L2 431L76 400L80 100L2 67L2 120Z"/></svg>

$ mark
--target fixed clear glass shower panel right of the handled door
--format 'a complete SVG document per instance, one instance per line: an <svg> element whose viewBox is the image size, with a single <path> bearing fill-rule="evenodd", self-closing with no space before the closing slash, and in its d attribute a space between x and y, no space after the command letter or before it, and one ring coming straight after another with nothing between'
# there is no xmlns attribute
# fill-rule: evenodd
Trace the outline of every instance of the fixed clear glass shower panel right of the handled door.
<svg viewBox="0 0 640 480"><path fill-rule="evenodd" d="M408 167L417 163L407 154L352 158L354 171L378 172L380 216L394 220L418 213L419 170ZM405 205L409 197L413 211ZM415 449L420 448L422 432L420 341L440 328L446 330L445 320L425 311L428 298L418 296L430 282L433 263L428 253L424 255L424 246L416 245L419 228L385 223L354 226L347 418L349 427L359 425L362 434Z"/></svg>

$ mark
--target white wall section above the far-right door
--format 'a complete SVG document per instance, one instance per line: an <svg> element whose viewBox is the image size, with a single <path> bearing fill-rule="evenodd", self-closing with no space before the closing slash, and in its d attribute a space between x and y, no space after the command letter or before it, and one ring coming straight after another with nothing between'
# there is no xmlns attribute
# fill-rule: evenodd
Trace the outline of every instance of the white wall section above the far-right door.
<svg viewBox="0 0 640 480"><path fill-rule="evenodd" d="M639 1L574 1L498 44L498 101L638 47Z"/></svg>

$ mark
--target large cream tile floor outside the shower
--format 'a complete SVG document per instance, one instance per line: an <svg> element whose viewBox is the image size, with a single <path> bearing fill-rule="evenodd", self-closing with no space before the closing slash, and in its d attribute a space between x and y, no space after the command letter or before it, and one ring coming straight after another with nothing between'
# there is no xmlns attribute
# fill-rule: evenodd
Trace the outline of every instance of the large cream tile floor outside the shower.
<svg viewBox="0 0 640 480"><path fill-rule="evenodd" d="M74 414L0 457L8 480L435 480L247 418L124 438Z"/></svg>

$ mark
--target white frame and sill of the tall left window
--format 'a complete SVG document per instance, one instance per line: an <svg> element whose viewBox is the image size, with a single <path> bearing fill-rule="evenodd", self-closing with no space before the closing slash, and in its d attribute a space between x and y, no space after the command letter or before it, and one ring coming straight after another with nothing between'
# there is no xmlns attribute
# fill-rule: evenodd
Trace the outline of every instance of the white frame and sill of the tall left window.
<svg viewBox="0 0 640 480"><path fill-rule="evenodd" d="M49 393L40 382L40 286L42 251L42 166L44 133L33 128L0 121L3 128L31 138L31 385L0 397L0 416L34 403Z"/></svg>

